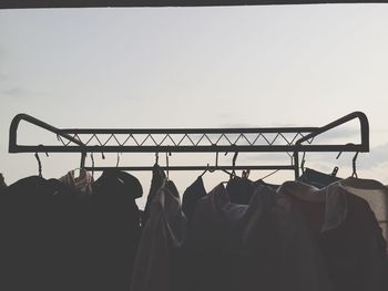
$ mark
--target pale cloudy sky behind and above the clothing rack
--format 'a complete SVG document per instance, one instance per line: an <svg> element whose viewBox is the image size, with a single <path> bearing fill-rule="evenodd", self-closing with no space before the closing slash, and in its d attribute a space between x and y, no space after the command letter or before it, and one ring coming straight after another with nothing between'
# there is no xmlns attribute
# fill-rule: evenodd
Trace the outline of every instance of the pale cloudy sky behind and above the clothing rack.
<svg viewBox="0 0 388 291"><path fill-rule="evenodd" d="M321 126L363 111L371 152L360 155L358 174L388 184L387 15L388 4L2 10L0 173L11 184L38 172L33 154L8 154L18 113L58 127L136 128ZM345 141L358 142L353 128ZM34 127L19 136L41 143ZM351 155L335 156L307 155L306 166L339 165L349 176ZM44 177L79 159L42 156ZM131 162L124 155L121 164ZM147 193L150 173L133 175ZM181 191L197 175L170 174ZM207 190L219 175L206 177Z"/></svg>

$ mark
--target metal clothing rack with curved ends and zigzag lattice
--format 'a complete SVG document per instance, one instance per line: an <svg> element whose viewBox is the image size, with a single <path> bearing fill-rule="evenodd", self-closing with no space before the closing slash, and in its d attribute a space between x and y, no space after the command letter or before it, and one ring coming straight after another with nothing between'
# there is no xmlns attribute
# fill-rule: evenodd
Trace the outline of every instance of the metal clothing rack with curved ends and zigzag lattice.
<svg viewBox="0 0 388 291"><path fill-rule="evenodd" d="M313 144L315 137L353 119L360 124L360 143ZM57 136L57 145L19 145L20 122L27 122ZM275 137L274 137L275 136ZM105 138L103 138L105 137ZM121 138L123 137L123 138ZM94 145L93 145L94 143ZM105 170L151 170L150 166L85 167L88 153L215 153L215 169L294 170L299 177L299 154L369 152L369 123L363 112L353 112L321 127L255 128L58 128L28 114L18 114L11 122L9 153L80 153L81 168ZM233 165L218 165L218 153L234 153ZM289 164L236 166L238 153L286 153ZM207 166L166 166L169 170L205 170Z"/></svg>

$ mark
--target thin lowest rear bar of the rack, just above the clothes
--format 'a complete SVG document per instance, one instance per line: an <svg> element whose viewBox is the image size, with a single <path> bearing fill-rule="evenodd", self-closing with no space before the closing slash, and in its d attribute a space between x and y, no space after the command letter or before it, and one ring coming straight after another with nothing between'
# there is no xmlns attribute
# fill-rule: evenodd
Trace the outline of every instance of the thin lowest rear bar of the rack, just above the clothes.
<svg viewBox="0 0 388 291"><path fill-rule="evenodd" d="M162 169L166 170L167 167L161 166ZM102 172L106 169L118 169L118 170L152 170L153 167L85 167L86 170ZM207 166L170 166L169 170L205 170ZM216 169L225 169L225 170L243 170L243 169L259 169L259 170L294 170L294 166L284 166L284 165L268 165L268 166L217 166Z"/></svg>

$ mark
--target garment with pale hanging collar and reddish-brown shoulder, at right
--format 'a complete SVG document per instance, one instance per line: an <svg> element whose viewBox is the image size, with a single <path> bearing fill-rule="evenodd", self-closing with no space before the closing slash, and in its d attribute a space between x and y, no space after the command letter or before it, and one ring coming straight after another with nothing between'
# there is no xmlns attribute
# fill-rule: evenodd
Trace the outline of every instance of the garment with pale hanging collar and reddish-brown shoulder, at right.
<svg viewBox="0 0 388 291"><path fill-rule="evenodd" d="M340 181L323 189L286 181L279 193L292 197L309 222L335 291L388 290L386 241L366 200Z"/></svg>

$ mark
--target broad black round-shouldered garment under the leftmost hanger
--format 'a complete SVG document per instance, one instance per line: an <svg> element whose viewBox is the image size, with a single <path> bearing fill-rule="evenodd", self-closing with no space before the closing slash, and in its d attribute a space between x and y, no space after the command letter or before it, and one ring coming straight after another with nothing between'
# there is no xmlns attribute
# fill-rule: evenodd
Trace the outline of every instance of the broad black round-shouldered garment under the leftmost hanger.
<svg viewBox="0 0 388 291"><path fill-rule="evenodd" d="M0 290L82 290L76 196L32 176L0 199Z"/></svg>

